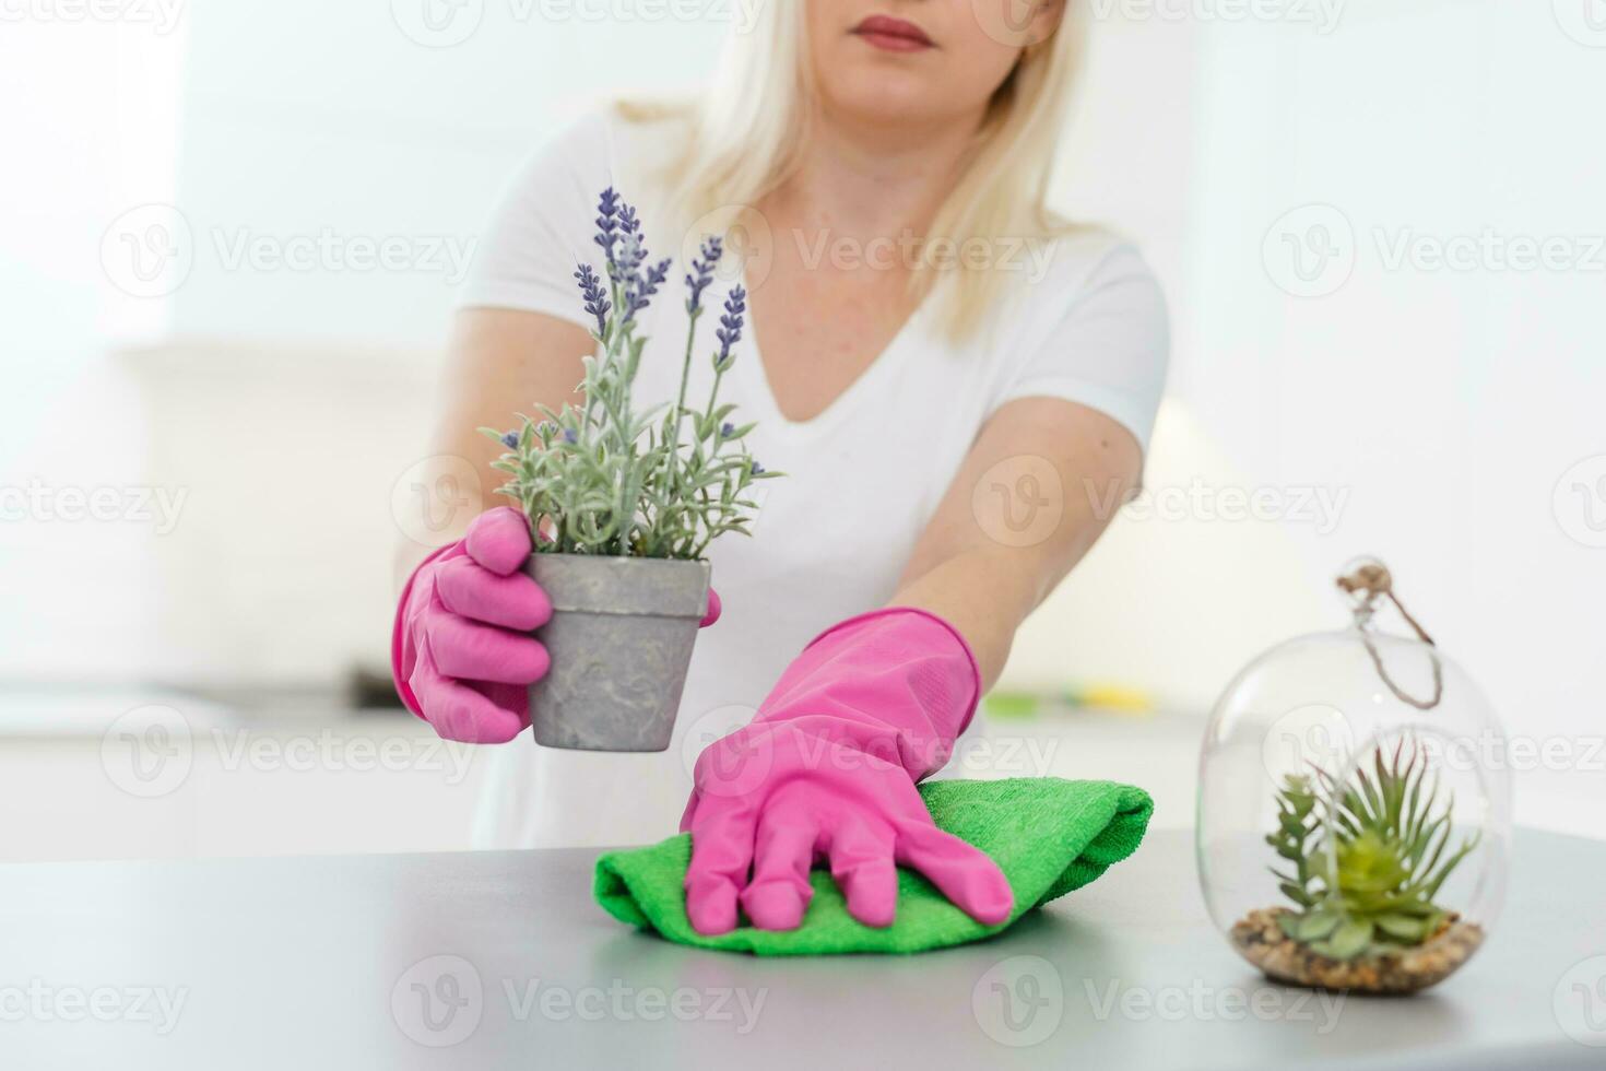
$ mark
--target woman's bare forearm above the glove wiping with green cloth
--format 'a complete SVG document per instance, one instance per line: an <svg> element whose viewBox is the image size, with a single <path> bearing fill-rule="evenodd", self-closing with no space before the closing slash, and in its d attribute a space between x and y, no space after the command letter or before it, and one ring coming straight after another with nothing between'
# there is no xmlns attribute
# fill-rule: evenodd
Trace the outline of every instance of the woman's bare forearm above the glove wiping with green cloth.
<svg viewBox="0 0 1606 1071"><path fill-rule="evenodd" d="M1015 629L1087 554L1140 469L1137 440L1108 416L1057 398L1010 401L972 445L891 605L954 625L991 687Z"/></svg>

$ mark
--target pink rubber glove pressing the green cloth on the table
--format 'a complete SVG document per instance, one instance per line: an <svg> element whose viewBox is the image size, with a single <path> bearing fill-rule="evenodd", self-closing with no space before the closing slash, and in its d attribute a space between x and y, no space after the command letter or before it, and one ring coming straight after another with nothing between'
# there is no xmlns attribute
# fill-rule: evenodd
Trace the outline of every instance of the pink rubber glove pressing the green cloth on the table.
<svg viewBox="0 0 1606 1071"><path fill-rule="evenodd" d="M984 925L1009 918L1002 872L936 829L915 790L948 763L980 690L970 647L925 610L877 610L816 637L753 723L697 758L681 819L692 835L692 926L732 930L740 902L761 930L797 928L816 859L869 926L893 922L896 864Z"/></svg>

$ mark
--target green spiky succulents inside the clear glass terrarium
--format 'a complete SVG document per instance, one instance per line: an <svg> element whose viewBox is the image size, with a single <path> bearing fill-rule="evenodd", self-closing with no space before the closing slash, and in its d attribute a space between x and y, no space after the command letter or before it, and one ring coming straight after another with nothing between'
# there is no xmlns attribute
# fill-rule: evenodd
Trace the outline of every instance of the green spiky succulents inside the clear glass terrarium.
<svg viewBox="0 0 1606 1071"><path fill-rule="evenodd" d="M1372 771L1357 766L1344 782L1320 769L1286 777L1277 832L1266 838L1293 867L1272 873L1299 907L1278 925L1335 960L1434 936L1450 915L1434 896L1479 841L1465 837L1450 849L1455 796L1441 801L1439 777L1415 743L1400 740L1392 756L1378 747Z"/></svg>

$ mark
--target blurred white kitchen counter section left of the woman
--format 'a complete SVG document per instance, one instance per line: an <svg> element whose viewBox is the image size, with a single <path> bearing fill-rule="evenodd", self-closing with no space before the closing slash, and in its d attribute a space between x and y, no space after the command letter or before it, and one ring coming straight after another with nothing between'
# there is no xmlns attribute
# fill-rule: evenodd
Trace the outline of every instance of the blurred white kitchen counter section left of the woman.
<svg viewBox="0 0 1606 1071"><path fill-rule="evenodd" d="M342 702L0 690L0 861L467 848L483 755Z"/></svg>

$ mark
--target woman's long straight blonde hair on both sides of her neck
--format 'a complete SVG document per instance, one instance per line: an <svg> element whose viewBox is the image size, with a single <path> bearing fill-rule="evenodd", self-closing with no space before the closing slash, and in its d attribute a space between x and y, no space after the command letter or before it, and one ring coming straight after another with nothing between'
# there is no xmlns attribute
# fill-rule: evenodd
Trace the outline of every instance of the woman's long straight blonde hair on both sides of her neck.
<svg viewBox="0 0 1606 1071"><path fill-rule="evenodd" d="M670 204L687 218L724 209L734 223L736 214L752 210L797 169L814 95L803 6L760 5L752 31L728 39L716 75L697 103L620 104L628 120L678 116L689 122L684 153L665 175ZM997 270L965 259L933 265L925 252L930 239L959 246L975 239L1047 239L1066 230L1047 209L1047 189L1086 43L1081 6L1066 0L1054 35L1028 45L993 95L965 170L931 220L911 273L915 300L925 299L941 278L954 278L954 292L938 310L940 323L954 337L983 321L1002 279Z"/></svg>

